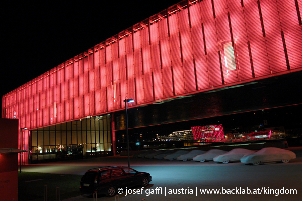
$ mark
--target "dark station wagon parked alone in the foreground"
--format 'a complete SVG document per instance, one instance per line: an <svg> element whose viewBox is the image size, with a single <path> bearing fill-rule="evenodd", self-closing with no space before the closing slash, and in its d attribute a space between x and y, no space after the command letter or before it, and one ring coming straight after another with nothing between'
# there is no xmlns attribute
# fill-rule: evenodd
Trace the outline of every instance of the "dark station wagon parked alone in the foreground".
<svg viewBox="0 0 302 201"><path fill-rule="evenodd" d="M152 177L149 173L138 172L122 166L104 166L88 170L81 178L82 194L105 194L113 197L118 188L141 185L146 187Z"/></svg>

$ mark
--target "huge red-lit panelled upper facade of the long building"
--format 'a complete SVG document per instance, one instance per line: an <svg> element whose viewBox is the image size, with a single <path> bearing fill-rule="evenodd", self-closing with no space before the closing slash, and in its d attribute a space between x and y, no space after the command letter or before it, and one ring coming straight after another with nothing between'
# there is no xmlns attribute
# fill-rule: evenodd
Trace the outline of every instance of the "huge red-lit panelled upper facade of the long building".
<svg viewBox="0 0 302 201"><path fill-rule="evenodd" d="M182 1L4 95L2 117L32 130L300 71L301 4Z"/></svg>

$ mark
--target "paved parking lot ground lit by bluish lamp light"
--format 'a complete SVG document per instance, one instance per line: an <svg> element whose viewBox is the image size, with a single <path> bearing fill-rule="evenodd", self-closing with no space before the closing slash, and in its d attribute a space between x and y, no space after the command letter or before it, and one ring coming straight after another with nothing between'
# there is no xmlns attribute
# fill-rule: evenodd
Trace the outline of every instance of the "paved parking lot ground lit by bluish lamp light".
<svg viewBox="0 0 302 201"><path fill-rule="evenodd" d="M119 195L120 200L300 200L302 192L302 147L289 148L297 158L287 164L247 165L243 163L219 164L213 161L168 161L130 158L130 166L152 175L147 189L129 194L141 187L131 188ZM84 174L86 170L104 166L127 166L126 156L83 159L26 165L22 171L55 174ZM79 181L80 184L80 181ZM55 186L54 186L55 187ZM219 190L218 194L202 190ZM296 190L297 194L290 194ZM289 194L288 194L289 193ZM295 191L292 191L295 193ZM116 197L117 198L117 197ZM72 200L93 200L92 196L78 196ZM115 200L115 197L98 197Z"/></svg>

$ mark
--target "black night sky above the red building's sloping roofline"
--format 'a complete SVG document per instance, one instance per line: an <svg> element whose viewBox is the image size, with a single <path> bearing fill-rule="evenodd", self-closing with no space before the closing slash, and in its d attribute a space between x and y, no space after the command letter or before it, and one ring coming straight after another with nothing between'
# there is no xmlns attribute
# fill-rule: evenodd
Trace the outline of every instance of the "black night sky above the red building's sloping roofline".
<svg viewBox="0 0 302 201"><path fill-rule="evenodd" d="M178 2L64 0L1 3L1 97Z"/></svg>

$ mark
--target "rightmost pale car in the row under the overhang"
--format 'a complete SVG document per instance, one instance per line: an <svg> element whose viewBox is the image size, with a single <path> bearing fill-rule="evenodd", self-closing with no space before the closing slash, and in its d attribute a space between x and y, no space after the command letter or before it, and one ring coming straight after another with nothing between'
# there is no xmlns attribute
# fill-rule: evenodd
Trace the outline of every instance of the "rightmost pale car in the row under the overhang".
<svg viewBox="0 0 302 201"><path fill-rule="evenodd" d="M296 155L292 151L276 147L266 147L254 154L244 156L240 159L242 163L251 163L259 165L260 163L282 162L288 163L289 160L295 159Z"/></svg>

